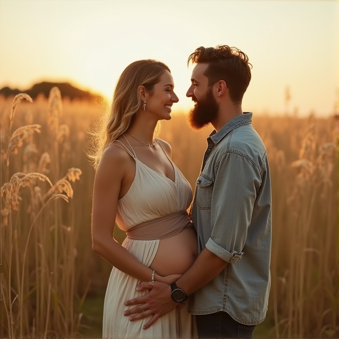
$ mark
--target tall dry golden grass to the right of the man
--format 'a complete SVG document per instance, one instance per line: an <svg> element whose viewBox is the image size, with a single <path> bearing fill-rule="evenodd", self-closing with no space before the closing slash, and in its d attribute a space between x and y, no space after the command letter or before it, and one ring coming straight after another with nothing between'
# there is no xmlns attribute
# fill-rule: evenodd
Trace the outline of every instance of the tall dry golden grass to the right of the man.
<svg viewBox="0 0 339 339"><path fill-rule="evenodd" d="M280 119L281 120L281 119ZM337 338L338 197L334 120L290 119L263 132L273 191L272 288L275 338ZM303 123L303 125L301 124ZM289 127L285 127L286 124ZM258 127L260 131L260 128ZM279 149L281 138L290 144ZM289 152L288 152L289 151Z"/></svg>

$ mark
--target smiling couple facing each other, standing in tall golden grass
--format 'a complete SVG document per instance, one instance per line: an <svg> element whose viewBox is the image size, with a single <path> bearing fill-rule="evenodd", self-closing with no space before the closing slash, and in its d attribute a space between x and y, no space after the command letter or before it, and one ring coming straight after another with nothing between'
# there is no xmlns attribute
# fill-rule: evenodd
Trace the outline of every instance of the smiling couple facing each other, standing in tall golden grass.
<svg viewBox="0 0 339 339"><path fill-rule="evenodd" d="M104 339L252 338L266 315L271 184L252 113L241 108L251 64L227 45L199 47L189 62L188 121L214 128L194 199L170 145L154 137L178 101L167 65L127 66L98 131L92 247L113 265Z"/></svg>

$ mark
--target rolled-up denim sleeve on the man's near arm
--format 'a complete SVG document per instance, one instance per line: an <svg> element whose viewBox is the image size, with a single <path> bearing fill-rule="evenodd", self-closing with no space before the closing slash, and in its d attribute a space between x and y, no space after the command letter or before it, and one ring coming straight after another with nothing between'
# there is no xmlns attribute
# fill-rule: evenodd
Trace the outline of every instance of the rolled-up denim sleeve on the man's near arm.
<svg viewBox="0 0 339 339"><path fill-rule="evenodd" d="M235 264L243 253L261 174L251 160L228 151L215 166L211 201L211 236L206 248Z"/></svg>

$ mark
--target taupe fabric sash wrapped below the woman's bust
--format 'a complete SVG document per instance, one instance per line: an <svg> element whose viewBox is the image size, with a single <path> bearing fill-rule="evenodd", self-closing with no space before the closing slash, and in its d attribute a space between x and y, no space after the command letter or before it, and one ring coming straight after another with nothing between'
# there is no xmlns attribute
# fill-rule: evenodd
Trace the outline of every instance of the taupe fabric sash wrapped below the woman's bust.
<svg viewBox="0 0 339 339"><path fill-rule="evenodd" d="M190 227L194 226L187 211L181 211L143 222L126 231L126 234L135 240L157 240L172 237Z"/></svg>

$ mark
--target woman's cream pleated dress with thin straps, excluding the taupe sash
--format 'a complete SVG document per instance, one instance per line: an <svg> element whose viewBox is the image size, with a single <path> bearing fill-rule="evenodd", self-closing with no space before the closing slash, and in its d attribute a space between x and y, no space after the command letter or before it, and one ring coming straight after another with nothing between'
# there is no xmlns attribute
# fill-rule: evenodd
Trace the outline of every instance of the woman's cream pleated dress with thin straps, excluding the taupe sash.
<svg viewBox="0 0 339 339"><path fill-rule="evenodd" d="M158 144L160 145L159 142ZM125 146L124 148L126 149ZM188 208L192 199L191 187L173 163L174 182L144 165L128 149L126 151L136 161L136 174L129 191L118 202L117 222L120 228L128 232L134 226L182 212ZM159 241L159 239L136 240L127 237L123 246L149 267L156 256ZM103 339L192 338L194 316L187 312L188 302L179 311L179 316L178 310L173 310L158 319L147 330L144 330L143 326L152 316L134 322L124 316L125 310L134 307L126 307L125 301L148 293L148 291L137 292L135 290L139 283L140 281L136 278L113 267L104 302Z"/></svg>

